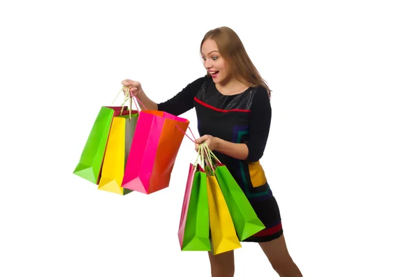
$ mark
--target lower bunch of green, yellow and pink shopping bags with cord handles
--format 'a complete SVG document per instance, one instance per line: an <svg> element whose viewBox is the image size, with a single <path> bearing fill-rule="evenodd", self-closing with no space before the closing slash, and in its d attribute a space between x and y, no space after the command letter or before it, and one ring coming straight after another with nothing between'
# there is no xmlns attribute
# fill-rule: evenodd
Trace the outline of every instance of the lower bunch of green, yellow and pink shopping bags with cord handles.
<svg viewBox="0 0 419 277"><path fill-rule="evenodd" d="M240 241L263 229L226 165L200 144L195 164L189 165L177 233L181 249L217 255L240 248Z"/></svg>

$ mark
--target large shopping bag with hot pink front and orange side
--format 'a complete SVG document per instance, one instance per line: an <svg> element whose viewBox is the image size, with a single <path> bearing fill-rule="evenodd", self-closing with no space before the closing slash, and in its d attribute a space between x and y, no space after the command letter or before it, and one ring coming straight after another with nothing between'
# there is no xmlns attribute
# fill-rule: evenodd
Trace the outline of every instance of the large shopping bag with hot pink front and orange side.
<svg viewBox="0 0 419 277"><path fill-rule="evenodd" d="M156 110L138 116L122 187L140 193L167 188L189 121Z"/></svg>

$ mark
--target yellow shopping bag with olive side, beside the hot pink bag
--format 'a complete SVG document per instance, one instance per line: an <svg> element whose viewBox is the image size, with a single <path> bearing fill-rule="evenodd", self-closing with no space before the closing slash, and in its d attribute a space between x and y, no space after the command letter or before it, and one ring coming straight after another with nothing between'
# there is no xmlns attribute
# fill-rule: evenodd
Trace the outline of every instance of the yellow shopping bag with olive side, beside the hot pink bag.
<svg viewBox="0 0 419 277"><path fill-rule="evenodd" d="M132 190L122 188L122 179L126 160L133 140L138 114L114 117L110 128L108 144L105 149L105 158L98 189L119 195L126 195Z"/></svg>

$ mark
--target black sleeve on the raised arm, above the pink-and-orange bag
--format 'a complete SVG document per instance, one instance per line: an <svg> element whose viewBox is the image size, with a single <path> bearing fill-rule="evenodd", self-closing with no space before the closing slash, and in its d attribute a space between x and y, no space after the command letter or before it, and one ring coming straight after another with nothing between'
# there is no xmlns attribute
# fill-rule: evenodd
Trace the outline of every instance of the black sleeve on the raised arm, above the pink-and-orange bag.
<svg viewBox="0 0 419 277"><path fill-rule="evenodd" d="M179 116L193 108L193 98L202 87L207 77L200 77L197 80L188 84L182 91L177 93L166 102L157 104L157 110L168 112L175 116Z"/></svg>

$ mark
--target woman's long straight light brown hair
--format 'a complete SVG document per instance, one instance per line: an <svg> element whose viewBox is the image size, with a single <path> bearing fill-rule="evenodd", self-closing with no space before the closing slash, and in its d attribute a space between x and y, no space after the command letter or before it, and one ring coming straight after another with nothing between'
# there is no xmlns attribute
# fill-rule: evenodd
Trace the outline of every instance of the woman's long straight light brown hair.
<svg viewBox="0 0 419 277"><path fill-rule="evenodd" d="M219 27L208 31L205 33L200 44L200 49L202 49L203 43L207 39L215 41L221 57L227 61L235 79L245 84L249 84L250 87L264 87L270 97L270 88L267 86L265 80L260 77L256 66L253 65L249 55L244 49L242 40L240 40L235 31L228 27Z"/></svg>

